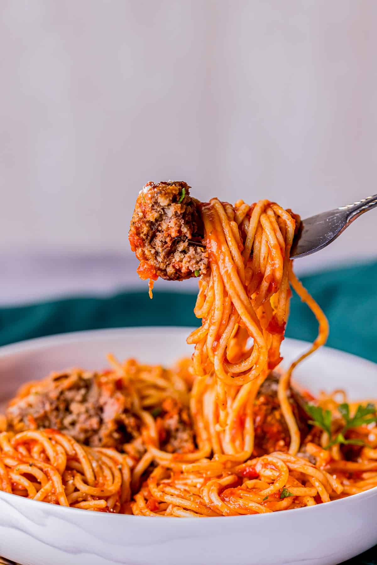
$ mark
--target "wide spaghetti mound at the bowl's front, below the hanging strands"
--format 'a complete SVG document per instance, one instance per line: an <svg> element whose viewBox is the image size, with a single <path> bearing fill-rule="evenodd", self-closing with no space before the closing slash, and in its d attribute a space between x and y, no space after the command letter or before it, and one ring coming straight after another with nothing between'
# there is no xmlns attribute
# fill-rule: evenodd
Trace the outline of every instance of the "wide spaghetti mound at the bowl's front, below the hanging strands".
<svg viewBox="0 0 377 565"><path fill-rule="evenodd" d="M252 477L252 478L249 478ZM237 516L314 506L343 492L340 481L310 462L272 453L239 466L215 460L175 471L157 467L132 505L146 516Z"/></svg>

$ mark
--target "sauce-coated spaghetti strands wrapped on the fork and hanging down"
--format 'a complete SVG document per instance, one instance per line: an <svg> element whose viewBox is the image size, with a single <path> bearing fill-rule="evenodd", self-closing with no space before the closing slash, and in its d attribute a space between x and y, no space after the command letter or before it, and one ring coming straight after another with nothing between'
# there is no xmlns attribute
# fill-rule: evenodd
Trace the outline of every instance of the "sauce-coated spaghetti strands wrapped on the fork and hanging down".
<svg viewBox="0 0 377 565"><path fill-rule="evenodd" d="M279 401L291 433L289 453L294 455L300 448L300 432L287 399L291 373L326 342L328 334L326 317L294 276L289 259L300 219L267 200L251 207L239 201L233 208L213 198L201 206L201 212L211 268L199 283L194 309L202 326L187 342L195 345L196 374L215 376L210 384L215 390L207 393L212 404L206 398L211 406L213 451L240 461L252 454L253 401L281 360L291 282L320 324L313 347L280 379ZM242 431L235 429L241 415ZM238 445L233 441L237 437Z"/></svg>

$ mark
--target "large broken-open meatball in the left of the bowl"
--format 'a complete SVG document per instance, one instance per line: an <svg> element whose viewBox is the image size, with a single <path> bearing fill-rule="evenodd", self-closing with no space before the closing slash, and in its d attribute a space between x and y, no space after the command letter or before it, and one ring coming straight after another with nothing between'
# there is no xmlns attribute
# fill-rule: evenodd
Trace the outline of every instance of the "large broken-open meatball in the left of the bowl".
<svg viewBox="0 0 377 565"><path fill-rule="evenodd" d="M6 411L8 428L54 428L81 444L123 450L140 437L141 420L131 397L114 378L74 370L53 373L21 389Z"/></svg>

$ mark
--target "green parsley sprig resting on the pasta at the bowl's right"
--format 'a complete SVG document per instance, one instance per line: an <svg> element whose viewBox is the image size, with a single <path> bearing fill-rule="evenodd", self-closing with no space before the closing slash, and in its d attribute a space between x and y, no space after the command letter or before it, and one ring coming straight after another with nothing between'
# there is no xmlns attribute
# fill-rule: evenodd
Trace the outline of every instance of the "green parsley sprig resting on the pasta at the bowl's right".
<svg viewBox="0 0 377 565"><path fill-rule="evenodd" d="M340 404L337 410L345 421L345 425L340 430L340 432L335 437L333 437L332 440L330 440L325 449L329 449L329 447L336 444L365 445L365 442L363 442L362 440L346 440L344 434L349 429L358 428L363 424L371 424L372 422L377 422L375 405L369 403L366 406L362 406L360 404L357 407L354 416L352 417L349 414L349 405L347 403ZM320 408L320 406L314 406L313 404L307 404L306 411L313 418L313 420L309 420L309 424L313 424L318 426L319 428L322 428L323 431L328 434L328 437L331 438L331 411L323 410L323 408Z"/></svg>

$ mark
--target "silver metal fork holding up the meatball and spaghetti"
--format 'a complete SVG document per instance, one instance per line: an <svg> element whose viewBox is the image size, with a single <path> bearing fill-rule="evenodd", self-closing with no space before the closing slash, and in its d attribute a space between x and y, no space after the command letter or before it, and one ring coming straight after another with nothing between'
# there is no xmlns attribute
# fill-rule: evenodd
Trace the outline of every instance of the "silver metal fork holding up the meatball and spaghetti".
<svg viewBox="0 0 377 565"><path fill-rule="evenodd" d="M377 194L302 220L294 238L291 257L300 259L330 245L356 218L377 206Z"/></svg>

